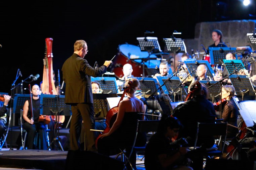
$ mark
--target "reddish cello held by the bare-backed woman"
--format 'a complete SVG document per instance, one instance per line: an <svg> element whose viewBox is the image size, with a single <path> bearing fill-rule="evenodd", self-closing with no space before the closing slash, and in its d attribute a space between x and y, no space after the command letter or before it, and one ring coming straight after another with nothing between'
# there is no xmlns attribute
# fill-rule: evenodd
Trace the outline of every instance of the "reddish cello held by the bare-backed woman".
<svg viewBox="0 0 256 170"><path fill-rule="evenodd" d="M102 134L108 133L108 132L110 131L112 125L113 125L114 122L116 121L119 103L120 103L120 101L123 100L124 95L125 95L125 93L126 93L126 91L127 91L128 89L129 89L129 88L124 88L124 93L122 94L121 99L120 99L119 102L118 102L118 105L115 106L115 107L112 107L112 108L108 111L108 113L106 114L106 129L102 132ZM102 134L99 134L99 136L98 136L97 139L95 140L95 146L96 146L96 148L98 148L98 146L97 146L97 144L98 144L98 139L99 139L99 137L100 137Z"/></svg>

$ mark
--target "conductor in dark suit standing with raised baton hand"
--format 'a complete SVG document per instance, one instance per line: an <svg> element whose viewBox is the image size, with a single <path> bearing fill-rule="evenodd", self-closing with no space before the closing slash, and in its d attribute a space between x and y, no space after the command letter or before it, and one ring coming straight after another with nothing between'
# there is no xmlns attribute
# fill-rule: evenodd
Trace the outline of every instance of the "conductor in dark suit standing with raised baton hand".
<svg viewBox="0 0 256 170"><path fill-rule="evenodd" d="M81 150L79 136L82 120L84 121L85 142L87 151L96 151L94 147L94 108L91 87L91 76L101 76L112 61L105 61L103 66L91 67L84 56L88 53L87 43L77 40L74 54L62 66L63 81L66 83L65 103L71 105L72 119L70 124L70 149Z"/></svg>

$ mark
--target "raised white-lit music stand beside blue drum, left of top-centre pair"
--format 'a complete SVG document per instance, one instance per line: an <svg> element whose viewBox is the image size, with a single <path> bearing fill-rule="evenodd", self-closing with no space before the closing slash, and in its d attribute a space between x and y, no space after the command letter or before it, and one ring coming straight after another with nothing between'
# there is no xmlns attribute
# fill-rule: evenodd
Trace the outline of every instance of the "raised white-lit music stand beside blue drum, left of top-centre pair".
<svg viewBox="0 0 256 170"><path fill-rule="evenodd" d="M143 58L142 60L142 67L143 67L143 77L145 77L145 62L148 61L148 64L150 65L150 55L152 53L159 53L162 52L160 45L158 43L157 37L137 37L137 40L139 42L140 51L146 51L148 53L147 58Z"/></svg>

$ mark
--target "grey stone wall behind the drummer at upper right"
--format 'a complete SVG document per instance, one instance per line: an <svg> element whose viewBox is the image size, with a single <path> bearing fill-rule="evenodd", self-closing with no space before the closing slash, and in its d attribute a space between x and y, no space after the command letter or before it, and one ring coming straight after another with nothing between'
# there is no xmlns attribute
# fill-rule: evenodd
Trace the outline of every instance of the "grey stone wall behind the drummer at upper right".
<svg viewBox="0 0 256 170"><path fill-rule="evenodd" d="M220 22L200 22L195 27L195 38L184 39L187 52L191 49L204 52L201 44L207 49L213 44L212 30L219 29L223 33L222 41L231 47L251 46L247 33L255 33L256 20L232 20ZM227 44L227 46L229 46ZM256 49L253 49L256 50Z"/></svg>

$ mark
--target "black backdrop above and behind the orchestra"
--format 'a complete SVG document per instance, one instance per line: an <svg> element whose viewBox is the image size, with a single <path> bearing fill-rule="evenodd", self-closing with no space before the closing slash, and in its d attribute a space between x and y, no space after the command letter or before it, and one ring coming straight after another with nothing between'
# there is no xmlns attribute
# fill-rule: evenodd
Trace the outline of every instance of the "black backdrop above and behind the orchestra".
<svg viewBox="0 0 256 170"><path fill-rule="evenodd" d="M34 83L42 81L45 38L53 38L53 70L60 72L65 60L73 54L76 40L88 43L86 59L91 66L111 60L121 44L137 45L136 37L145 31L150 36L170 38L172 32L182 32L178 38L194 38L198 22L256 19L255 2L244 7L239 0L37 0L8 1L0 4L0 92L11 94L15 85L29 75L39 74ZM211 38L211 37L209 37ZM159 41L163 50L164 45ZM31 79L29 79L31 80ZM24 88L28 83L24 83ZM26 93L26 92L25 92Z"/></svg>

